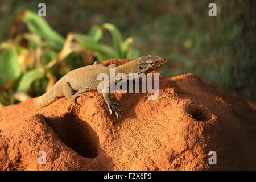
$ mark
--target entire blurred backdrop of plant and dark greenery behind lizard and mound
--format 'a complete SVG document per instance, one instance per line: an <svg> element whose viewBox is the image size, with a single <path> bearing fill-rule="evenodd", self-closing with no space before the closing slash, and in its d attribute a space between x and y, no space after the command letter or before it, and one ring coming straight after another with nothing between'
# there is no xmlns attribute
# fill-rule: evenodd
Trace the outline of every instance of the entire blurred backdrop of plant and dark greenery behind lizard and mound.
<svg viewBox="0 0 256 182"><path fill-rule="evenodd" d="M50 27L32 13L13 22L25 10L37 14L40 2L46 3L44 19ZM217 5L217 17L208 15L211 2ZM158 70L168 77L193 73L226 93L256 102L255 4L1 0L0 107L39 96L69 70L94 60L149 54L168 59ZM40 26L48 29L41 31Z"/></svg>

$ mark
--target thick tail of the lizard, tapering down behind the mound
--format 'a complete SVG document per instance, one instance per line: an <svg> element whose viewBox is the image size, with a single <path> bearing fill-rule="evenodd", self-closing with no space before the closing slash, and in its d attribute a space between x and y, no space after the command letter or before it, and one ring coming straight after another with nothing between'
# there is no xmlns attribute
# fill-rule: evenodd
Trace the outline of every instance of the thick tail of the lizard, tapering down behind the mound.
<svg viewBox="0 0 256 182"><path fill-rule="evenodd" d="M58 97L55 96L54 90L50 89L48 92L44 93L42 96L33 99L33 104L36 109L41 109L48 106L52 102L56 101Z"/></svg>

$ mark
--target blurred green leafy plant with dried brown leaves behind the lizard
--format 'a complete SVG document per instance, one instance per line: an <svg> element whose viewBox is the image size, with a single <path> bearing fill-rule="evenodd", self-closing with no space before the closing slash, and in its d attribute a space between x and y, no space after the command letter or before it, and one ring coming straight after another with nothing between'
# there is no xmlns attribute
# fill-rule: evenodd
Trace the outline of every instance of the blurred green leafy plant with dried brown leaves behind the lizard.
<svg viewBox="0 0 256 182"><path fill-rule="evenodd" d="M44 93L65 73L92 64L94 59L139 56L133 39L123 41L113 24L93 26L87 35L71 32L64 38L32 11L16 15L13 30L18 29L16 22L20 20L30 32L0 47L0 107ZM104 30L110 32L114 47L100 43Z"/></svg>

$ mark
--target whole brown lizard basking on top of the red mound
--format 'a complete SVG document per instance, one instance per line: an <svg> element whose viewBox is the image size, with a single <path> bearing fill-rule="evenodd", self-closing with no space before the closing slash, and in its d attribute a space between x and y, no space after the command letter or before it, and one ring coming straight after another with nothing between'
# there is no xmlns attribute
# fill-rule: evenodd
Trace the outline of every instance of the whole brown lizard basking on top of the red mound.
<svg viewBox="0 0 256 182"><path fill-rule="evenodd" d="M106 73L110 78L110 69L114 69L115 75L118 73L123 73L126 75L126 79L129 80L130 74L148 73L166 63L166 59L155 55L138 57L119 66L110 64L107 67L105 65L100 65L98 64L98 61L95 61L93 65L87 65L85 67L69 71L66 75L61 77L60 80L57 81L46 93L44 93L42 96L34 98L33 104L36 109L41 109L56 101L58 98L65 97L68 101L73 102L73 105L76 106L76 100L78 97L82 96L90 98L90 96L86 96L82 93L90 90L96 90L98 88L98 84L100 84L101 80L97 80L97 77L100 73ZM115 82L118 81L120 80L115 80ZM121 115L121 111L117 107L118 104L112 101L110 87L105 86L105 88L102 88L102 90L104 89L107 92L102 92L102 96L108 105L110 115L112 114L113 110L118 118L118 115Z"/></svg>

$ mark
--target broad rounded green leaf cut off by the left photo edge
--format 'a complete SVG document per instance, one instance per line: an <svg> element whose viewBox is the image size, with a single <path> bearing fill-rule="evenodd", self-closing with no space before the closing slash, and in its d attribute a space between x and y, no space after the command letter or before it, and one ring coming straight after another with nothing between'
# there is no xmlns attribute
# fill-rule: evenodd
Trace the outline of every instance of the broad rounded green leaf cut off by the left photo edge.
<svg viewBox="0 0 256 182"><path fill-rule="evenodd" d="M18 55L10 48L6 48L0 56L0 85L7 81L15 80L20 76L20 64Z"/></svg>

